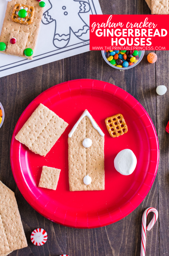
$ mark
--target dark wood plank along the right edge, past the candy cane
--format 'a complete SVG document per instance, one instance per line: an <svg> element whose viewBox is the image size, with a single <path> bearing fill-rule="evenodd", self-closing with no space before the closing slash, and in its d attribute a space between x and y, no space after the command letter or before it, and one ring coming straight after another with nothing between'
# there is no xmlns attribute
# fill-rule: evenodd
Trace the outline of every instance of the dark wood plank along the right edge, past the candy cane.
<svg viewBox="0 0 169 256"><path fill-rule="evenodd" d="M160 162L158 170L159 187L159 255L169 254L169 134L165 127L169 120L168 101L168 77L169 57L168 51L156 51L158 59L156 66L156 86L167 86L167 93L160 96L157 94L157 134L159 139Z"/></svg>

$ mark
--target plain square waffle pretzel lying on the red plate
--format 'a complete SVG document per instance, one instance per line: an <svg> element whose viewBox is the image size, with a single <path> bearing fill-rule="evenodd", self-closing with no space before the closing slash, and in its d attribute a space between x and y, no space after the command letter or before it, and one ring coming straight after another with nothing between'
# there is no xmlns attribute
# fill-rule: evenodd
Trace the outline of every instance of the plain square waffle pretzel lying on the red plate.
<svg viewBox="0 0 169 256"><path fill-rule="evenodd" d="M127 124L122 114L110 116L105 119L105 124L111 137L116 138L128 132Z"/></svg>

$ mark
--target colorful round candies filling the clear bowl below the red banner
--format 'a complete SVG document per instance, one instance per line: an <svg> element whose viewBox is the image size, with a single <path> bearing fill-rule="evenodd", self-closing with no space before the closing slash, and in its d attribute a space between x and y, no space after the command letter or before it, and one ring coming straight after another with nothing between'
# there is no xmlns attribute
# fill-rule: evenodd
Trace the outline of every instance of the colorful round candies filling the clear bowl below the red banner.
<svg viewBox="0 0 169 256"><path fill-rule="evenodd" d="M127 68L138 62L142 51L137 50L106 50L107 60L110 64L120 68Z"/></svg>

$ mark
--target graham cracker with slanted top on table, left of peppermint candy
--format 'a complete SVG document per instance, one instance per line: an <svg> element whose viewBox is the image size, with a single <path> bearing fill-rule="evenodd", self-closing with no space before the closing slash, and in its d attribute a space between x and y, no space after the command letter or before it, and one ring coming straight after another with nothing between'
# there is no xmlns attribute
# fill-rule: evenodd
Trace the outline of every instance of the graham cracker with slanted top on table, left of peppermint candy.
<svg viewBox="0 0 169 256"><path fill-rule="evenodd" d="M0 256L27 247L14 192L0 181Z"/></svg>

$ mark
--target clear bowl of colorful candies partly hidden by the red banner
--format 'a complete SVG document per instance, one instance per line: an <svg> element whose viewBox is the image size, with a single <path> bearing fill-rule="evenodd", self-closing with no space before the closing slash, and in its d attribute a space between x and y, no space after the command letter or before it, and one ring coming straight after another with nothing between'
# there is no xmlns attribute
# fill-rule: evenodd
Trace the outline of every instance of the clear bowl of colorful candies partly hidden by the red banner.
<svg viewBox="0 0 169 256"><path fill-rule="evenodd" d="M115 69L131 69L143 59L144 51L109 50L101 51L104 60Z"/></svg>

